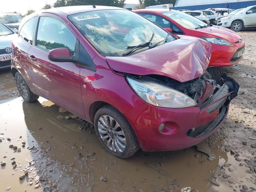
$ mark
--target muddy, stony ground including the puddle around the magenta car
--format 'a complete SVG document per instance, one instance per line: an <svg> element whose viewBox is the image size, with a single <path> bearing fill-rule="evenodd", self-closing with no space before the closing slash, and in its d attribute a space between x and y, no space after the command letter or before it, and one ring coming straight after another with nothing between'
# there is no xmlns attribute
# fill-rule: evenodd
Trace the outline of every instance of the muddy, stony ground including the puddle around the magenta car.
<svg viewBox="0 0 256 192"><path fill-rule="evenodd" d="M22 101L10 70L0 71L0 161L5 162L0 191L256 190L256 32L240 35L246 41L244 60L221 69L240 90L224 124L208 139L216 156L212 161L195 146L115 158L100 146L90 125L43 98Z"/></svg>

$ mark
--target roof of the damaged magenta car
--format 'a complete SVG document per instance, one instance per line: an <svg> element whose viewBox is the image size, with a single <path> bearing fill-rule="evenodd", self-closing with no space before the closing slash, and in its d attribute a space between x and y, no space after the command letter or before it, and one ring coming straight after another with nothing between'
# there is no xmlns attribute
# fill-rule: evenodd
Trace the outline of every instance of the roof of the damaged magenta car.
<svg viewBox="0 0 256 192"><path fill-rule="evenodd" d="M58 8L52 8L52 9L46 9L42 10L41 13L58 13L63 12L67 15L81 13L81 12L88 12L88 11L97 11L97 10L113 10L113 9L121 9L125 10L123 8L118 7L111 7L111 6L95 6L94 8L92 5L82 5L82 6L66 6L66 7L58 7Z"/></svg>

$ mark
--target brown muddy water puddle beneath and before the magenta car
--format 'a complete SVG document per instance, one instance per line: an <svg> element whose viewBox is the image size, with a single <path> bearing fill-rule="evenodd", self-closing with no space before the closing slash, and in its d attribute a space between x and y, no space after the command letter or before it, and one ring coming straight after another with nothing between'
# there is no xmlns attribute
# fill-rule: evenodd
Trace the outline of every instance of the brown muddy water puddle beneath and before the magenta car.
<svg viewBox="0 0 256 192"><path fill-rule="evenodd" d="M211 161L196 147L116 158L102 148L93 128L81 129L75 116L65 118L69 114L42 98L35 103L0 101L0 160L6 162L0 191L226 192L255 187L246 162L216 148L211 148L216 157ZM28 175L20 180L24 170Z"/></svg>

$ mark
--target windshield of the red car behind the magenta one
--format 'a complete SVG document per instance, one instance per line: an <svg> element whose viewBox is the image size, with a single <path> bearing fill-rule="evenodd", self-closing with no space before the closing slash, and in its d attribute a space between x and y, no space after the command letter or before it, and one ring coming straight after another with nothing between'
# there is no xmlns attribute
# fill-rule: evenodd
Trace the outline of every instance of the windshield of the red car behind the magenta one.
<svg viewBox="0 0 256 192"><path fill-rule="evenodd" d="M207 24L200 19L183 12L167 11L163 12L162 14L168 16L170 19L174 20L184 28L195 29L198 27L207 26Z"/></svg>

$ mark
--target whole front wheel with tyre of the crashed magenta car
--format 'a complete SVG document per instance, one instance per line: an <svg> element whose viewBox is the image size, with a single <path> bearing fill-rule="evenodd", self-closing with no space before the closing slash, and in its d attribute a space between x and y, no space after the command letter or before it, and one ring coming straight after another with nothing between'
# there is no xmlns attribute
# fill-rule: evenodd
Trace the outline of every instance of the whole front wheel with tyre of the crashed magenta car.
<svg viewBox="0 0 256 192"><path fill-rule="evenodd" d="M103 147L118 158L128 158L139 150L138 140L126 118L106 105L94 116L96 135Z"/></svg>

